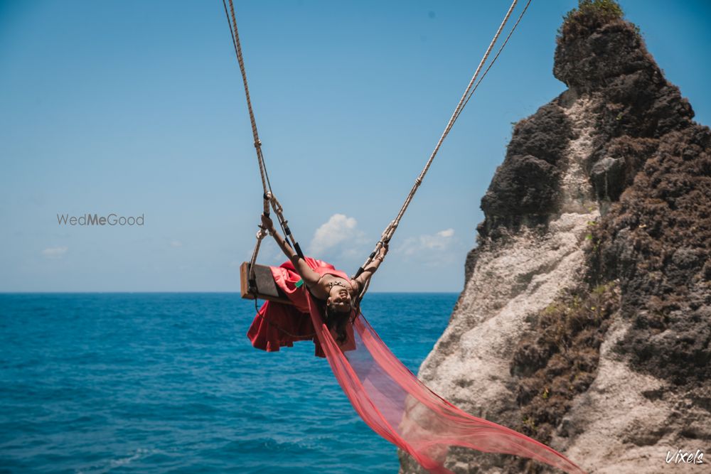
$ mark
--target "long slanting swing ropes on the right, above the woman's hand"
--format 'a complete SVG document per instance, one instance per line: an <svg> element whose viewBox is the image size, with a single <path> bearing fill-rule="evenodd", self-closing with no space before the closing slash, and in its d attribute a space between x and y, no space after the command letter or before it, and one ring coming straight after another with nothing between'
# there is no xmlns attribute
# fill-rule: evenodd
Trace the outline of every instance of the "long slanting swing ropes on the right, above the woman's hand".
<svg viewBox="0 0 711 474"><path fill-rule="evenodd" d="M412 202L412 198L415 197L415 193L417 193L417 189L419 189L419 185L422 184L422 181L424 180L424 176L427 175L427 171L429 171L429 167L432 165L432 161L434 161L434 157L437 156L437 152L439 151L439 148L442 146L444 139L447 138L449 131L451 130L452 126L454 126L454 122L456 122L456 119L459 118L461 111L464 110L464 106L466 105L467 102L469 102L469 99L471 99L471 96L474 94L474 90L476 90L476 88L479 87L479 84L481 84L481 81L486 76L486 73L491 69L491 66L493 66L493 63L496 62L498 55L501 54L503 47L506 46L506 43L508 43L509 38L513 34L513 31L515 30L516 26L518 26L518 23L521 21L521 18L523 18L523 14L525 14L526 9L528 9L528 5L530 5L530 2L531 2L531 0L528 0L528 3L526 4L525 8L523 9L523 12L521 12L520 16L518 17L518 21L516 21L513 28L511 28L510 33L508 33L508 36L506 37L506 41L503 42L503 45L501 45L501 48L499 48L498 53L496 53L493 60L488 65L488 68L486 68L486 70L483 72L483 75L481 75L481 78L479 78L479 82L476 82L476 85L474 85L477 77L479 77L479 72L481 72L481 68L483 68L483 65L486 63L486 60L488 59L489 54L491 54L491 50L493 49L493 46L496 44L496 41L498 41L498 37L501 36L501 31L503 31L504 26L506 26L506 23L508 22L508 18L511 16L511 12L513 12L513 9L515 8L516 4L518 3L518 0L513 0L513 2L511 3L508 11L506 12L506 16L504 16L503 21L501 22L501 25L498 27L498 30L496 31L496 34L493 36L491 43L488 45L488 48L486 48L486 53L484 53L483 58L481 58L481 61L479 62L479 66L477 66L476 71L474 72L474 75L471 77L471 80L469 81L469 85L466 86L466 90L464 90L464 94L461 96L461 99L459 99L459 103L456 105L454 112L451 114L451 117L449 118L449 122L447 122L447 126L444 127L442 136L439 137L439 140L437 141L437 145L434 146L434 150L432 151L432 154L429 156L427 163L425 163L424 168L422 169L422 172L419 173L419 176L417 176L417 179L415 180L415 184L412 185L412 189L410 189L410 193L408 193L407 198L405 198L405 203L402 204L402 207L400 208L400 212L397 212L397 216L395 217L395 219L392 220L392 222L390 222L390 224L388 224L387 227L385 227L385 230L383 231L383 234L381 235L380 240L375 244L375 249L373 250L373 252L370 253L370 256L368 256L368 259L365 260L365 263L363 263L363 265L360 266L358 271L356 271L353 278L355 278L356 276L363 273L365 266L367 266L368 264L370 264L370 262L373 261L375 254L378 253L378 251L380 250L380 247L383 247L383 244L390 242L392 235L394 235L395 230L397 230L397 226L400 225L400 220L402 219L402 216L405 215L405 211L407 211L408 206L410 206L410 202ZM368 289L368 285L366 284L363 288L363 291L361 291L361 293L360 293L361 298L363 297L363 295L365 295L365 291L367 289Z"/></svg>

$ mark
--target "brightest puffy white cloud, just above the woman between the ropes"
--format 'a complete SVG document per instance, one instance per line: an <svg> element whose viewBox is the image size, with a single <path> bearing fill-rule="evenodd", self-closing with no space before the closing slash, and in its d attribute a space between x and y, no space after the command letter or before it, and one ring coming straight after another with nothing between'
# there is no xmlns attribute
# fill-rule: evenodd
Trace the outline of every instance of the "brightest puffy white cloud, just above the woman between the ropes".
<svg viewBox="0 0 711 474"><path fill-rule="evenodd" d="M334 214L321 225L309 244L309 254L316 258L324 258L340 249L344 256L360 254L358 247L365 243L365 235L358 230L358 221L344 214Z"/></svg>

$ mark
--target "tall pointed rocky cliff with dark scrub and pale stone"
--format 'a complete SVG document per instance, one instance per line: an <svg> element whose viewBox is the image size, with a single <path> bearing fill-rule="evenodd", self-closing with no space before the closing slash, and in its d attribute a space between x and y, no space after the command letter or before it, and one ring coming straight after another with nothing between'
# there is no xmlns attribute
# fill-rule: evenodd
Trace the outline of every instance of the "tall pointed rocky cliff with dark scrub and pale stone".
<svg viewBox="0 0 711 474"><path fill-rule="evenodd" d="M614 1L567 16L553 74L568 90L515 125L419 377L590 473L658 473L711 448L711 131ZM464 450L447 465L548 472Z"/></svg>

